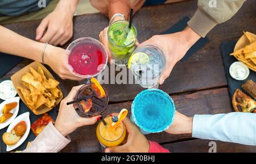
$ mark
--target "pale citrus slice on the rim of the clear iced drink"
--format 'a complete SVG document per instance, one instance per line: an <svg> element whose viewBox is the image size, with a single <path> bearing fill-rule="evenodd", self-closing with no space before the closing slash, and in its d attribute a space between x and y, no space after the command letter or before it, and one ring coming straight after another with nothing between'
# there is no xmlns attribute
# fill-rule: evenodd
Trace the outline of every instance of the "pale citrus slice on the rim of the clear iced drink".
<svg viewBox="0 0 256 164"><path fill-rule="evenodd" d="M143 52L134 53L128 62L127 68L130 68L132 64L148 64L150 62L150 57Z"/></svg>

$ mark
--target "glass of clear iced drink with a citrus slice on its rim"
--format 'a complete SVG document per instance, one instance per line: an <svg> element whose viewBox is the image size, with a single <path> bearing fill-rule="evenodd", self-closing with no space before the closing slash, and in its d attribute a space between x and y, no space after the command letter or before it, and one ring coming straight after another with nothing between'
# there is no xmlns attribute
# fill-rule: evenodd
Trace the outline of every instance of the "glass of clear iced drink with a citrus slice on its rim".
<svg viewBox="0 0 256 164"><path fill-rule="evenodd" d="M127 67L139 85L151 88L158 84L165 66L166 57L163 52L154 45L144 45L133 52Z"/></svg>

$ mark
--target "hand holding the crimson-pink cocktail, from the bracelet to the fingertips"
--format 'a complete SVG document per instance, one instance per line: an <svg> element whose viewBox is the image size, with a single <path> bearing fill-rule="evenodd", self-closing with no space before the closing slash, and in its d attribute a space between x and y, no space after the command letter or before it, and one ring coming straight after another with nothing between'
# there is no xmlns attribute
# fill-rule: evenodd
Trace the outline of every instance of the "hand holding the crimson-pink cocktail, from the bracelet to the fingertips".
<svg viewBox="0 0 256 164"><path fill-rule="evenodd" d="M75 81L82 80L82 78L69 72L65 64L64 55L65 49L47 45L46 51L44 52L44 63L49 65L61 79L72 79Z"/></svg>

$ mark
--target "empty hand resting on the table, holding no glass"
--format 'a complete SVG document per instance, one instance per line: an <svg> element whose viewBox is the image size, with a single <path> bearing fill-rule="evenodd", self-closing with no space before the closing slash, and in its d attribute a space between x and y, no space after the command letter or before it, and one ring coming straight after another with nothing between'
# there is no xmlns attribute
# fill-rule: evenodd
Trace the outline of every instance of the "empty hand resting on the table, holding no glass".
<svg viewBox="0 0 256 164"><path fill-rule="evenodd" d="M75 5L73 4L75 3ZM60 1L36 28L36 40L51 45L64 45L73 35L75 1Z"/></svg>

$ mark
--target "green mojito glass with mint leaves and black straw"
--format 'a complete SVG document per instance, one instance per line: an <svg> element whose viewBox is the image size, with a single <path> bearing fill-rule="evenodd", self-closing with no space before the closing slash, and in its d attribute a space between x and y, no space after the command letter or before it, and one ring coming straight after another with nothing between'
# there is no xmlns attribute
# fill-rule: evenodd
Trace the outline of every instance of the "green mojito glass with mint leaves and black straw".
<svg viewBox="0 0 256 164"><path fill-rule="evenodd" d="M112 53L115 65L127 65L128 60L135 49L137 30L129 22L118 20L109 26L109 49Z"/></svg>

